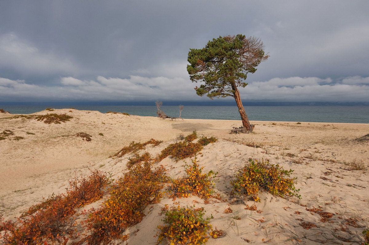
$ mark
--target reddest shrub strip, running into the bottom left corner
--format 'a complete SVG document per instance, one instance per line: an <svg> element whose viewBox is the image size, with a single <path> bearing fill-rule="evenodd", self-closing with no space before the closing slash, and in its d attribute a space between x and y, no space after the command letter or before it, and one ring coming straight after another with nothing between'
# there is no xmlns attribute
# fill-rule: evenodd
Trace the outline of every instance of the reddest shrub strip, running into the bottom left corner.
<svg viewBox="0 0 369 245"><path fill-rule="evenodd" d="M66 195L52 195L24 212L15 222L2 221L1 244L61 244L60 236L75 234L76 210L99 200L108 184L106 173L70 181ZM64 240L65 241L65 240Z"/></svg>

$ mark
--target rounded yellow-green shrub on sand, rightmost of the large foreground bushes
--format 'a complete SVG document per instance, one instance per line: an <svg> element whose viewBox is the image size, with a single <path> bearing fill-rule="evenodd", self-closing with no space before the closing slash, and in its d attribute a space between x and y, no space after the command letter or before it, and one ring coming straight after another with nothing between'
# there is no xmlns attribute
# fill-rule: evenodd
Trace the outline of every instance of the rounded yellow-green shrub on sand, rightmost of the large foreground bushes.
<svg viewBox="0 0 369 245"><path fill-rule="evenodd" d="M283 197L284 195L298 192L294 187L296 178L288 178L293 170L283 170L279 165L270 164L269 160L249 159L249 165L238 171L235 179L231 181L233 194L251 195L255 201L260 201L258 192L260 189L266 190L273 195Z"/></svg>

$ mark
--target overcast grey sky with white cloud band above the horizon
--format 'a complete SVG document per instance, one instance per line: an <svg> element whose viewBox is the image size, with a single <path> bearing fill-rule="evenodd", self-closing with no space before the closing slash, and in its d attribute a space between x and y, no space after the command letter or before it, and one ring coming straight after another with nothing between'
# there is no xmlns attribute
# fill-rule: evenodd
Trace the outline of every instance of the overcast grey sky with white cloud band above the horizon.
<svg viewBox="0 0 369 245"><path fill-rule="evenodd" d="M368 102L368 10L367 0L0 0L0 101L208 102L187 74L190 48L244 34L270 55L244 101Z"/></svg>

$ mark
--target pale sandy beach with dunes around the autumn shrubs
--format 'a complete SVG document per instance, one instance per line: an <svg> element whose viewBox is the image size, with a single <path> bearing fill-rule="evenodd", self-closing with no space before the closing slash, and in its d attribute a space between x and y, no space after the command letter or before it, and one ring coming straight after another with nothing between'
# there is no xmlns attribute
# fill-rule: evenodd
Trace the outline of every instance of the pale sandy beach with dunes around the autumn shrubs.
<svg viewBox="0 0 369 245"><path fill-rule="evenodd" d="M180 135L196 130L199 136L214 136L199 154L203 171L218 172L215 192L223 200L204 202L197 196L163 197L145 210L143 220L129 227L127 244L155 244L158 225L163 225L161 208L178 205L203 207L213 228L225 231L221 238L209 238L206 244L361 244L362 231L369 227L369 124L261 122L252 134L230 134L241 120L168 120L157 117L100 113L75 109L42 111L34 115L57 113L70 115L70 121L46 124L33 118L11 118L0 113L0 133L11 130L0 140L0 214L15 219L31 205L50 195L64 193L74 176L89 174L94 168L112 174L114 179L127 171L131 155L109 156L130 142L162 140L144 151L159 154ZM87 133L90 141L77 137ZM230 196L230 181L252 159L269 159L285 170L294 170L297 197L259 194L260 202ZM161 164L171 178L184 174L184 162L167 157ZM241 198L242 199L242 198ZM101 201L85 207L98 208ZM258 212L245 209L256 205ZM231 213L224 210L231 208ZM320 210L320 211L317 211ZM322 213L330 213L329 218ZM235 219L237 216L240 219ZM304 224L313 224L307 227Z"/></svg>

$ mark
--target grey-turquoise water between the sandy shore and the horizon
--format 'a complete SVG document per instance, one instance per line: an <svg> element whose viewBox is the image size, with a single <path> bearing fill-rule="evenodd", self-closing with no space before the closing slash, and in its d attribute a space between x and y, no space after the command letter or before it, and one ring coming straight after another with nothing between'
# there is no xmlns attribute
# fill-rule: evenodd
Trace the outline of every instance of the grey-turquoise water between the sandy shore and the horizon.
<svg viewBox="0 0 369 245"><path fill-rule="evenodd" d="M157 116L156 106L50 106L54 109L75 108L77 110L97 110L125 112L138 116ZM31 114L46 109L45 106L2 106L13 114ZM162 106L166 115L179 116L178 106ZM331 122L369 123L369 106L245 106L249 120L288 122ZM237 106L184 106L182 118L240 120Z"/></svg>

